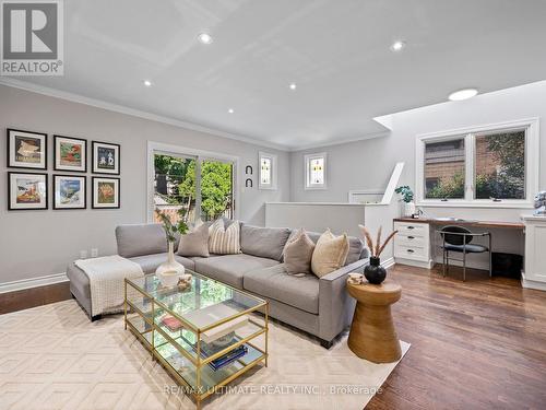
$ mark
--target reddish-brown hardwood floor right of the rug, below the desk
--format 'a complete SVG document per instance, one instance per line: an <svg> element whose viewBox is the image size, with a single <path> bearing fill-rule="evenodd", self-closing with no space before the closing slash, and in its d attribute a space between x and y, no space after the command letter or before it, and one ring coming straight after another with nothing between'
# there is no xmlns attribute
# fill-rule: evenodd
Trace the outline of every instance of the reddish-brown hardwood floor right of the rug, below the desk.
<svg viewBox="0 0 546 410"><path fill-rule="evenodd" d="M412 348L366 409L546 408L546 292L473 271L462 282L395 266L400 339Z"/></svg>

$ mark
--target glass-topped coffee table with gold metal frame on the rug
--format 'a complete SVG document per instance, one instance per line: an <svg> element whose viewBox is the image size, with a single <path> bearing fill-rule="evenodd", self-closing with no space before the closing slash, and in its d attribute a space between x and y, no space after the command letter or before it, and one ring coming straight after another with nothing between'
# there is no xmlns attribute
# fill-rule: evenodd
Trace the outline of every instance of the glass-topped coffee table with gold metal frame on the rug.
<svg viewBox="0 0 546 410"><path fill-rule="evenodd" d="M201 401L259 363L268 365L266 301L188 271L187 288L155 274L124 281L124 326ZM263 315L254 315L261 312Z"/></svg>

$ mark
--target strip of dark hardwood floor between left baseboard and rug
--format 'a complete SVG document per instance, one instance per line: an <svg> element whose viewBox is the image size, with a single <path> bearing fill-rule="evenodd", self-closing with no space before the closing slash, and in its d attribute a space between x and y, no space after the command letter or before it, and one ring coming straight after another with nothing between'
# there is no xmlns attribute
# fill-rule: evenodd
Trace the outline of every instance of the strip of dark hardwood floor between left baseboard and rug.
<svg viewBox="0 0 546 410"><path fill-rule="evenodd" d="M0 294L0 315L71 298L69 282Z"/></svg>

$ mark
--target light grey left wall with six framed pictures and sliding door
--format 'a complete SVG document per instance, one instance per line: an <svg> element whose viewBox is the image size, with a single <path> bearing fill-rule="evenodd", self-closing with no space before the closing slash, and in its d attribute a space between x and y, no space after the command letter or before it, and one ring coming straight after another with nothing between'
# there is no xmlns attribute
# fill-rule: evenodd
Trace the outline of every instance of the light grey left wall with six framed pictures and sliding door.
<svg viewBox="0 0 546 410"><path fill-rule="evenodd" d="M146 222L149 140L239 156L239 187L245 186L245 166L252 165L254 188L241 189L239 195L239 215L244 221L263 225L265 201L289 200L290 164L286 152L0 86L1 132L5 134L5 128L10 127L50 136L47 171L50 187L51 175L56 173L52 171L54 133L120 143L121 209L8 211L4 141L0 144L0 284L63 272L67 263L79 257L80 249L90 253L96 247L100 255L112 254L116 251L114 229L117 225ZM278 155L276 191L257 188L259 150ZM88 188L91 175L87 174ZM90 201L91 190L87 189L87 204Z"/></svg>

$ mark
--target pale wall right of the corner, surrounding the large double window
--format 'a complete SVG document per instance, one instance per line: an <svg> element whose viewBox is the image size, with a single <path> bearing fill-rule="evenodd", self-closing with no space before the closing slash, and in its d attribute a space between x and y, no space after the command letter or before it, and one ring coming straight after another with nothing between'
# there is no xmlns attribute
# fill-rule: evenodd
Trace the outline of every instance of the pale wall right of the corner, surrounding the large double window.
<svg viewBox="0 0 546 410"><path fill-rule="evenodd" d="M392 115L392 131L387 137L318 148L292 153L293 201L345 201L352 189L384 188L396 162L405 162L400 185L415 188L415 139L427 132L502 122L530 117L541 118L539 189L546 189L546 81L478 95ZM323 191L304 189L304 155L328 152L328 185ZM430 216L519 221L530 209L425 208ZM523 253L521 232L494 232L495 249Z"/></svg>

